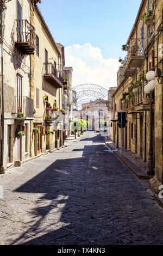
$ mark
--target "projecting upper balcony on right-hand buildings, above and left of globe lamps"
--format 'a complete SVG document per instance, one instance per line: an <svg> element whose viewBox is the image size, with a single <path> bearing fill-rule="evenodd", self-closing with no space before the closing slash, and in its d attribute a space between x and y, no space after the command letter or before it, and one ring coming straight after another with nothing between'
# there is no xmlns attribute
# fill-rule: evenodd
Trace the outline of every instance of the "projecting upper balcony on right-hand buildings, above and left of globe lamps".
<svg viewBox="0 0 163 256"><path fill-rule="evenodd" d="M128 48L127 68L140 68L145 60L143 47L145 39L131 39Z"/></svg>

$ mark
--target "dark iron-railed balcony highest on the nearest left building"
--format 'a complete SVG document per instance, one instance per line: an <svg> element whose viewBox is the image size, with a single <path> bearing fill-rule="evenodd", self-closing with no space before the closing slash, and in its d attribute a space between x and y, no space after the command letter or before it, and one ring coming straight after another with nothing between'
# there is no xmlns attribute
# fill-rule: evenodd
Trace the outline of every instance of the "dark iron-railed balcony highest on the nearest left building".
<svg viewBox="0 0 163 256"><path fill-rule="evenodd" d="M15 20L16 36L15 48L22 55L34 54L35 28L27 20Z"/></svg>

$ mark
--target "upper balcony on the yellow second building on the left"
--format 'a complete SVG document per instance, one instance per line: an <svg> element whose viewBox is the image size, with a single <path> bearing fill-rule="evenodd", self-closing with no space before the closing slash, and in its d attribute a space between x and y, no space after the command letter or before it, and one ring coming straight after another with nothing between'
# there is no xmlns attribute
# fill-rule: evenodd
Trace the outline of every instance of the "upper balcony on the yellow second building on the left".
<svg viewBox="0 0 163 256"><path fill-rule="evenodd" d="M63 87L63 78L60 72L54 67L52 63L43 63L44 65L44 79L52 83L54 87L56 88L62 88Z"/></svg>

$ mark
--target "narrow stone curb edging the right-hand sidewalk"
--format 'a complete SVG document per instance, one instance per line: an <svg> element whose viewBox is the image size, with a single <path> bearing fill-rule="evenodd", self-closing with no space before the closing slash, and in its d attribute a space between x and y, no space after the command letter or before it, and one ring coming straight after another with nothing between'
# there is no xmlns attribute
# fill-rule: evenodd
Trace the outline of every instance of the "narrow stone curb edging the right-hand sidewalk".
<svg viewBox="0 0 163 256"><path fill-rule="evenodd" d="M105 139L104 139L105 141ZM147 175L143 172L142 169L140 169L139 167L136 166L135 163L131 162L126 156L123 156L121 155L119 152L117 151L114 151L115 148L111 147L109 145L109 143L106 143L105 141L105 144L111 149L113 150L113 153L118 157L118 159L120 159L130 170L131 172L133 172L135 174L135 176L139 179L151 179L153 178L153 175Z"/></svg>

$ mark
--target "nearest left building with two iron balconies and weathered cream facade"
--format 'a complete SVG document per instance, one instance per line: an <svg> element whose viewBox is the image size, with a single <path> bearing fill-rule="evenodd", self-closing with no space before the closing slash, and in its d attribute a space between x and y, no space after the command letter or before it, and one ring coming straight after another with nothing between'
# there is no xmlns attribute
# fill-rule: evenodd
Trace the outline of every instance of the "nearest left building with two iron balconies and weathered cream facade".
<svg viewBox="0 0 163 256"><path fill-rule="evenodd" d="M12 0L1 10L1 171L30 157L30 55L35 32L28 0Z"/></svg>

